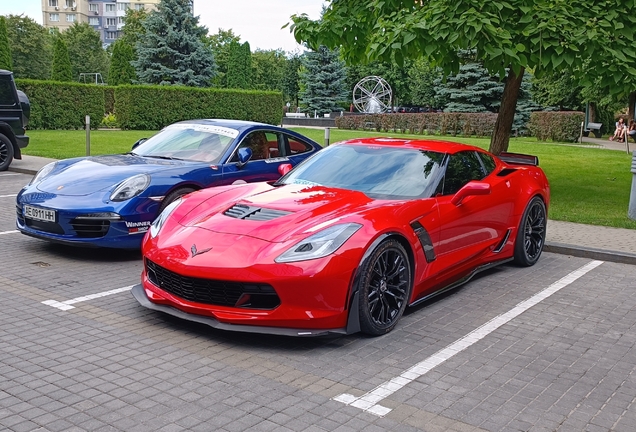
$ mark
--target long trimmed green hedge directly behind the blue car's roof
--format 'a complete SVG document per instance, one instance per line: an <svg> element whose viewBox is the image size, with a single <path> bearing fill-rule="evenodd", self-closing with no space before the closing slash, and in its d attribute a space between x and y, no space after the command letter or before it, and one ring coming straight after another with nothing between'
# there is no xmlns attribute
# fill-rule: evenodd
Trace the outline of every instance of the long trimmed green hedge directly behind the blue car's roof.
<svg viewBox="0 0 636 432"><path fill-rule="evenodd" d="M278 92L167 86L118 86L115 114L122 129L157 130L180 120L227 118L280 124Z"/></svg>

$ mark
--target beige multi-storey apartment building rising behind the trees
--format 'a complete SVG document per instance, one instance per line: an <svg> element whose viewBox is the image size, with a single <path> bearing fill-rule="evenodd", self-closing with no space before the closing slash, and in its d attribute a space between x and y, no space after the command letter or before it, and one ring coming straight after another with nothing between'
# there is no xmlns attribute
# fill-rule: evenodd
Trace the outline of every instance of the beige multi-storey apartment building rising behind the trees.
<svg viewBox="0 0 636 432"><path fill-rule="evenodd" d="M126 10L156 8L159 0L42 0L42 22L46 28L66 30L75 22L88 23L110 45L120 35Z"/></svg>

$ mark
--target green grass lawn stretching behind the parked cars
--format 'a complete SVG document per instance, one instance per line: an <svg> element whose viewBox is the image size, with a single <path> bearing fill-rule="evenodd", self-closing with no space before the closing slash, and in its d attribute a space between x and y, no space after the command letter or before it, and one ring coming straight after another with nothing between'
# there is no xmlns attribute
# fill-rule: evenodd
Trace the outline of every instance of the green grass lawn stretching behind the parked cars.
<svg viewBox="0 0 636 432"><path fill-rule="evenodd" d="M322 129L294 128L319 143ZM91 131L91 154L125 153L139 138L152 131ZM31 137L24 154L56 159L84 156L85 131L29 131ZM421 135L378 133L333 129L331 142L368 136L422 138ZM450 136L427 137L488 148L489 138ZM577 147L538 142L534 138L513 138L509 151L539 157L551 186L549 217L554 220L636 229L627 217L633 174L631 155L594 147Z"/></svg>

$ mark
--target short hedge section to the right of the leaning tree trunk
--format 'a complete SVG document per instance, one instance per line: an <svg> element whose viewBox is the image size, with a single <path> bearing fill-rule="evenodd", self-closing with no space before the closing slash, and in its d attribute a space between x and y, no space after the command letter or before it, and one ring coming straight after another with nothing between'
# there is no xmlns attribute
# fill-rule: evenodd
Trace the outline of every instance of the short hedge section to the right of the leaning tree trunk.
<svg viewBox="0 0 636 432"><path fill-rule="evenodd" d="M585 113L580 111L535 111L530 114L528 130L539 141L575 142L584 120Z"/></svg>

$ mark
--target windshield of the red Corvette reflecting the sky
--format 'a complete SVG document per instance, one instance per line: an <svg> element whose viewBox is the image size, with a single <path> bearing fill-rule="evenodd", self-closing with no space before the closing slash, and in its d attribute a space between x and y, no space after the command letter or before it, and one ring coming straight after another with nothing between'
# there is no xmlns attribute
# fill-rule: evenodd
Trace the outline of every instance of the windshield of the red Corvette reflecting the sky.
<svg viewBox="0 0 636 432"><path fill-rule="evenodd" d="M444 156L408 148L334 145L299 165L278 184L356 190L377 199L429 198L443 175Z"/></svg>

